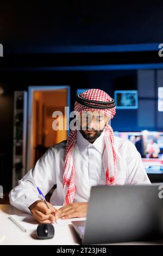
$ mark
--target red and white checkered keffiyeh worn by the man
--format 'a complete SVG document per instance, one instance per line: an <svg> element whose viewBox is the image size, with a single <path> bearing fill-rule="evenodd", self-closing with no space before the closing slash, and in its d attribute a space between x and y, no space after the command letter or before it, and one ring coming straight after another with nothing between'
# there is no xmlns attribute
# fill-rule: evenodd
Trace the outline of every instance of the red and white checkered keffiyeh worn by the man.
<svg viewBox="0 0 163 256"><path fill-rule="evenodd" d="M109 102L112 101L111 97L105 93L103 90L100 89L89 89L86 90L84 93L80 94L84 99L87 100L95 100L95 101L104 101ZM77 101L75 101L74 105L74 112L82 112L82 111L98 111L110 118L113 118L116 111L115 107L113 108L90 108L84 106ZM105 139L105 147L103 153L103 165L105 169L105 178L106 178L106 185L116 185L116 153L114 148L114 133L110 125L106 124L104 128L104 139ZM66 144L66 152L65 152L65 170L64 170L64 195L65 195L65 202L64 205L70 204L73 202L74 195L76 192L76 187L74 184L74 164L73 164L73 149L74 145L76 144L77 139L77 130L73 130L70 132L70 135L67 139Z"/></svg>

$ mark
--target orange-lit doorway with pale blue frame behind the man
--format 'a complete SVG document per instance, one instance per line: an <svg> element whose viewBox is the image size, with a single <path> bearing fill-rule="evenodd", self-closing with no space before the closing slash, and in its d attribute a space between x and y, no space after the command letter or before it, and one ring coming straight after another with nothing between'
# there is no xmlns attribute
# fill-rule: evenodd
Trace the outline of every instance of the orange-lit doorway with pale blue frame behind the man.
<svg viewBox="0 0 163 256"><path fill-rule="evenodd" d="M65 107L69 107L66 113ZM54 111L61 111L63 114L63 130L53 130ZM30 86L28 88L27 172L35 166L36 161L49 147L67 139L69 114L69 86Z"/></svg>

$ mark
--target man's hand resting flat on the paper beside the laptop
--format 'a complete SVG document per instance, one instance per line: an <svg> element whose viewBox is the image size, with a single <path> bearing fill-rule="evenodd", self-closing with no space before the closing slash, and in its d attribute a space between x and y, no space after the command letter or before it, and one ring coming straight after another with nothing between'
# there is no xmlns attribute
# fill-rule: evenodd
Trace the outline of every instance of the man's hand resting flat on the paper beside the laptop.
<svg viewBox="0 0 163 256"><path fill-rule="evenodd" d="M61 207L55 216L61 219L86 217L88 203L71 203Z"/></svg>

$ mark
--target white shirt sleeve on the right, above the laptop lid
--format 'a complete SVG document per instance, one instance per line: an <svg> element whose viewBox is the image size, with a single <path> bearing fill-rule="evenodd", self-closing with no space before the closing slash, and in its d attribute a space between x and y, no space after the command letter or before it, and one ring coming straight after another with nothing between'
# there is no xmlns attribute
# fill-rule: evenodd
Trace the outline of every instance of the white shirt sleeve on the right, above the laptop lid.
<svg viewBox="0 0 163 256"><path fill-rule="evenodd" d="M145 167L143 166L141 155L135 145L127 141L126 162L128 166L128 185L151 184Z"/></svg>

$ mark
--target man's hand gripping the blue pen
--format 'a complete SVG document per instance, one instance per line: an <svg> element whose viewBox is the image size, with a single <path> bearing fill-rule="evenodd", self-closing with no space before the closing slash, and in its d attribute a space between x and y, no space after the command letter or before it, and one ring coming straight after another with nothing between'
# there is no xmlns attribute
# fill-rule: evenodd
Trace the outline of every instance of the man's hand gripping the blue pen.
<svg viewBox="0 0 163 256"><path fill-rule="evenodd" d="M57 209L50 203L48 203L49 209L42 200L37 200L32 205L29 206L29 210L32 212L33 217L39 223L54 223L57 220L57 217L54 214L57 214Z"/></svg>

